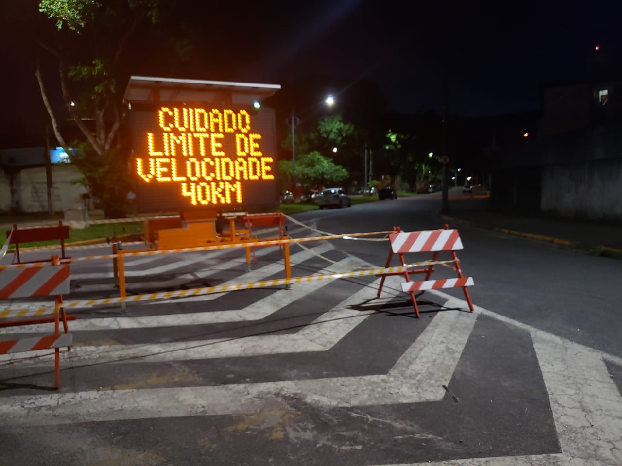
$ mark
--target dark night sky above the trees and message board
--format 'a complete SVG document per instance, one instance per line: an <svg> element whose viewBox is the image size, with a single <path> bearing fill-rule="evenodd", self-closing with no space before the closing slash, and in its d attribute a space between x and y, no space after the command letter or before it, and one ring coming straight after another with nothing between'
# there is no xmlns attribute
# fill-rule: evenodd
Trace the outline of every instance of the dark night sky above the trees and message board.
<svg viewBox="0 0 622 466"><path fill-rule="evenodd" d="M34 58L17 40L29 25L7 14L13 3L2 0L0 9L2 122L36 121L43 109ZM452 112L482 116L538 108L543 83L587 80L596 66L622 76L622 9L613 1L178 4L195 18L203 60L192 76L170 73L177 78L376 80L389 108L402 112L439 109L446 87ZM162 60L155 50L144 56Z"/></svg>

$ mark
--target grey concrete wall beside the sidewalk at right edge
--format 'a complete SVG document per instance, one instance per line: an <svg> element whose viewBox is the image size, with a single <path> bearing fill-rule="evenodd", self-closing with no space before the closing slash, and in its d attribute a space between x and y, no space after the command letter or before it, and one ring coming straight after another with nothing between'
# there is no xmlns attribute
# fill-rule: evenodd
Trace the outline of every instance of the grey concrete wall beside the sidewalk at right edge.
<svg viewBox="0 0 622 466"><path fill-rule="evenodd" d="M542 167L542 211L622 221L622 159Z"/></svg>

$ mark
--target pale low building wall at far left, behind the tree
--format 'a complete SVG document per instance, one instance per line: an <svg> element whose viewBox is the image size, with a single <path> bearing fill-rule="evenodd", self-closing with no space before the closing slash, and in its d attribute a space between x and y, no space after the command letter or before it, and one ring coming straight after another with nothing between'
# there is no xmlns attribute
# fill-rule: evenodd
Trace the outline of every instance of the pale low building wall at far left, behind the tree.
<svg viewBox="0 0 622 466"><path fill-rule="evenodd" d="M81 178L71 164L52 165L52 204L55 211L82 206L81 194L87 190L72 183ZM18 212L47 212L45 167L24 168L13 175L14 196L8 175L0 176L0 208ZM8 196L6 197L6 194ZM7 199L7 200L5 200Z"/></svg>

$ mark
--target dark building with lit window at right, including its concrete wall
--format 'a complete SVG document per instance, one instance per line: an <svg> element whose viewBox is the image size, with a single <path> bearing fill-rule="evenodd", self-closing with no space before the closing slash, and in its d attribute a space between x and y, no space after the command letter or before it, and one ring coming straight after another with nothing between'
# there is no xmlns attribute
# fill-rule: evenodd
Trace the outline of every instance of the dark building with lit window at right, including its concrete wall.
<svg viewBox="0 0 622 466"><path fill-rule="evenodd" d="M496 207L622 221L622 81L545 87L539 134L502 153Z"/></svg>

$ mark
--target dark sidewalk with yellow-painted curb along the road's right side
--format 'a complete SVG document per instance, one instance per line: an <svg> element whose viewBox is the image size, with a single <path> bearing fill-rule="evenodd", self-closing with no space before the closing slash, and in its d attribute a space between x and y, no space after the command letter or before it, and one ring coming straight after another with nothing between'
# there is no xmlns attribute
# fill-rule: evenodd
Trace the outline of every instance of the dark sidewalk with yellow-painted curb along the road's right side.
<svg viewBox="0 0 622 466"><path fill-rule="evenodd" d="M470 225L622 260L622 226L619 225L530 217L483 208L452 209L451 204L448 214L440 217L450 227Z"/></svg>

